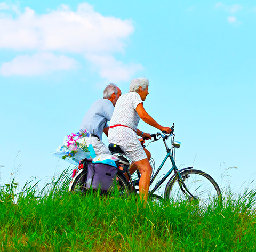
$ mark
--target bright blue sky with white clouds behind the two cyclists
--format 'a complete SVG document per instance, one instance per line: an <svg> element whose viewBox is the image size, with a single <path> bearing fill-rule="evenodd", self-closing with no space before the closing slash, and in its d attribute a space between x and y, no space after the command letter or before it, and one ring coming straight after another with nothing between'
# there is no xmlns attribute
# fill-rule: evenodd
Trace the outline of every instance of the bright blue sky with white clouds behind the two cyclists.
<svg viewBox="0 0 256 252"><path fill-rule="evenodd" d="M115 82L126 93L145 76L146 110L175 123L178 166L247 186L256 166L255 25L253 1L0 2L1 184L17 168L21 185L62 172L69 164L50 153L103 88ZM162 145L148 147L157 164ZM221 179L229 167L238 169Z"/></svg>

